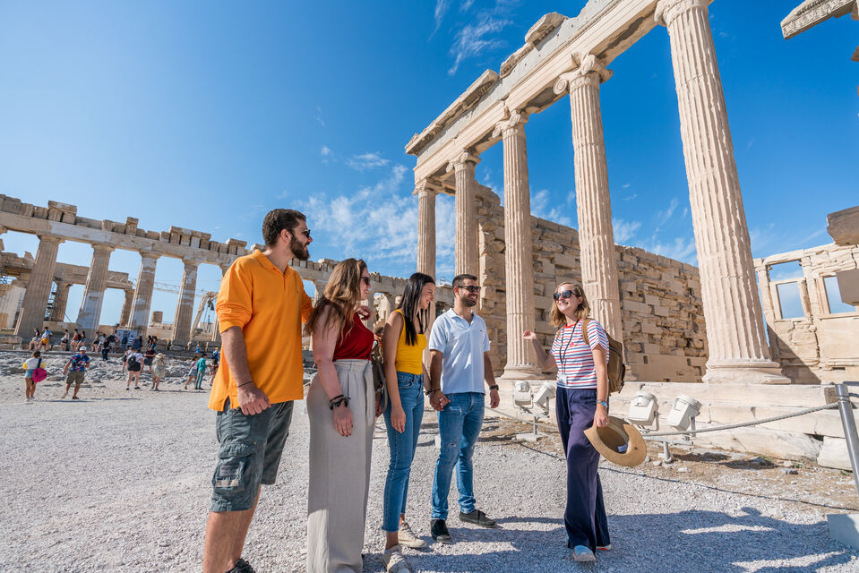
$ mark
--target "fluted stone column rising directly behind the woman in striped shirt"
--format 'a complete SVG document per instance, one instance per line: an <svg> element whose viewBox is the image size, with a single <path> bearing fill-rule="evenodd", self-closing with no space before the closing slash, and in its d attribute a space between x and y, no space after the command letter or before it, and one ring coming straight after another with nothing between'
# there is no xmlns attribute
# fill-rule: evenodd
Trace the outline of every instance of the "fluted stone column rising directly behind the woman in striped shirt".
<svg viewBox="0 0 859 573"><path fill-rule="evenodd" d="M599 107L599 84L610 76L605 66L589 54L579 69L563 74L555 82L554 91L570 93L582 287L591 316L608 334L623 340L606 141Z"/></svg>

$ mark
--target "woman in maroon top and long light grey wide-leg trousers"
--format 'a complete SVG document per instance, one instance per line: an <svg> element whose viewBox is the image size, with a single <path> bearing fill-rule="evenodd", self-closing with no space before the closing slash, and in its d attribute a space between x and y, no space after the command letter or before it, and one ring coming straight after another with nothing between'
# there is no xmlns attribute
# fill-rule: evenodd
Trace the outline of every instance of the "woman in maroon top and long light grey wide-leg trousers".
<svg viewBox="0 0 859 573"><path fill-rule="evenodd" d="M364 261L340 262L305 327L314 340L318 369L307 393L308 573L363 569L370 454L378 411L370 365L373 332L357 314L369 290L370 273Z"/></svg>

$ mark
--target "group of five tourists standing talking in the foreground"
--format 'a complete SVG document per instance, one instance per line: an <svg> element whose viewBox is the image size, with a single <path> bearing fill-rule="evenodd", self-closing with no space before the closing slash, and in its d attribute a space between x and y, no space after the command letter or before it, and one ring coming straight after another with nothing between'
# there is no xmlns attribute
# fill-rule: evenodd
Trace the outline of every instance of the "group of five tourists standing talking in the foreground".
<svg viewBox="0 0 859 573"><path fill-rule="evenodd" d="M262 484L275 483L295 400L304 398L302 323L313 339L317 373L306 398L310 422L307 500L308 573L361 571L375 420L383 415L391 457L382 500L385 549L393 573L408 573L402 548L423 548L407 518L408 483L424 415L424 400L438 417L441 448L434 467L429 534L453 543L448 494L454 468L460 522L494 527L478 509L472 458L483 423L485 397L500 402L489 358L485 322L473 308L477 278L453 279L453 307L429 328L432 277L408 278L401 303L382 328L381 345L363 320L360 301L371 287L364 261L341 261L314 304L289 261L306 261L313 241L305 215L272 210L262 224L264 252L236 259L225 274L216 306L224 364L214 376L209 406L217 412L218 461L212 477L203 552L205 573L253 573L242 557ZM581 286L562 283L552 320L559 328L550 355L533 341L545 368L558 373L558 425L568 462L564 525L574 560L595 560L610 550L597 450L582 431L608 423L608 341L588 320ZM428 336L427 336L428 335ZM275 347L273 347L273 346ZM377 346L378 345L378 346ZM424 363L428 348L429 371ZM379 364L381 362L381 365ZM381 367L380 367L381 366Z"/></svg>

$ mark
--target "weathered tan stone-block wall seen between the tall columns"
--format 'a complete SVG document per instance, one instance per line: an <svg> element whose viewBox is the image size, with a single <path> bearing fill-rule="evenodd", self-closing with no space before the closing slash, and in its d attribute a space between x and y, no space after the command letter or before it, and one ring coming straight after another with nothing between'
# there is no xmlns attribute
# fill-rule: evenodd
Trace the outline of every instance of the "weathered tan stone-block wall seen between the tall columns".
<svg viewBox="0 0 859 573"><path fill-rule="evenodd" d="M504 217L499 197L487 187L477 192L480 256L479 313L492 341L496 371L507 356L504 272ZM534 303L537 336L552 344L552 294L562 279L580 281L579 234L531 217ZM698 269L641 249L615 245L620 276L623 344L628 380L698 382L707 361L707 343ZM517 336L520 333L516 333Z"/></svg>

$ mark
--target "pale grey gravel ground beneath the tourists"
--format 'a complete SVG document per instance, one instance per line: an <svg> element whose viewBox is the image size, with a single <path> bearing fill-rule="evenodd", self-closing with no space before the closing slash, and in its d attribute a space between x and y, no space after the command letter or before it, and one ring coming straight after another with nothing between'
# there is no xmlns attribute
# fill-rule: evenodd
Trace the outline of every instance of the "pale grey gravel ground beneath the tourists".
<svg viewBox="0 0 859 573"><path fill-rule="evenodd" d="M116 360L88 373L79 402L52 376L23 399L22 355L0 353L0 571L196 571L216 442L207 393L126 392ZM59 372L62 357L48 359ZM96 360L96 363L100 362ZM188 361L171 367L177 376ZM144 376L148 384L148 376ZM426 413L408 516L428 537L434 415ZM501 525L449 520L457 543L407 551L416 571L857 571L859 552L829 540L824 509L717 491L696 483L600 469L614 550L596 565L569 560L563 532L563 461L497 435L487 418L475 451L478 505ZM265 488L245 546L262 573L303 571L308 423L296 409L279 483ZM379 426L367 515L365 571L382 571L387 441ZM456 488L451 491L456 508ZM455 515L455 512L453 513ZM773 517L777 516L777 517ZM431 540L430 540L431 541Z"/></svg>

